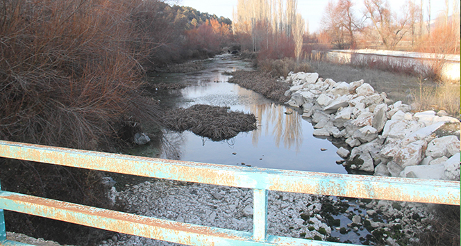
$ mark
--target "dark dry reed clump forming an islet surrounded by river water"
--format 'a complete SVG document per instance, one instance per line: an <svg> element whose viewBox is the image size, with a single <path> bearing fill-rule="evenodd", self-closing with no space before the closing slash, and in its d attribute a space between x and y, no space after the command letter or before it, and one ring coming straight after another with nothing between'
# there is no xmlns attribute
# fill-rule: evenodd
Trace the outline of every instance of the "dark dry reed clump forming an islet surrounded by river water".
<svg viewBox="0 0 461 246"><path fill-rule="evenodd" d="M168 129L192 131L213 141L227 140L242 131L253 131L257 128L253 114L202 104L172 110L163 120Z"/></svg>

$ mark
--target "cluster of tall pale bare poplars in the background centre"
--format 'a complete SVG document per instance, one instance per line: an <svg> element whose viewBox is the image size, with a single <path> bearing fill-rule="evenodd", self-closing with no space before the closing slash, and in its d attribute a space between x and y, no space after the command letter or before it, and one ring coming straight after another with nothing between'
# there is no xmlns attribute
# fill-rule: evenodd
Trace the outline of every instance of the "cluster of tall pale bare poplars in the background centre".
<svg viewBox="0 0 461 246"><path fill-rule="evenodd" d="M239 0L233 31L242 49L258 51L258 60L301 57L305 24L296 0Z"/></svg>

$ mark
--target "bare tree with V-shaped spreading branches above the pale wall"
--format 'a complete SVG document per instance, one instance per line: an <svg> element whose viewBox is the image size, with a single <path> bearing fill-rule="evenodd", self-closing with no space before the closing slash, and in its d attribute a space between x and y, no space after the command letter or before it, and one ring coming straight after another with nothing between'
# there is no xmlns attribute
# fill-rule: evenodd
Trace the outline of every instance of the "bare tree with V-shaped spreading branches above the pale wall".
<svg viewBox="0 0 461 246"><path fill-rule="evenodd" d="M371 20L386 49L395 49L408 32L408 12L405 11L401 19L398 19L396 14L392 13L387 0L364 0L364 6L365 17Z"/></svg>

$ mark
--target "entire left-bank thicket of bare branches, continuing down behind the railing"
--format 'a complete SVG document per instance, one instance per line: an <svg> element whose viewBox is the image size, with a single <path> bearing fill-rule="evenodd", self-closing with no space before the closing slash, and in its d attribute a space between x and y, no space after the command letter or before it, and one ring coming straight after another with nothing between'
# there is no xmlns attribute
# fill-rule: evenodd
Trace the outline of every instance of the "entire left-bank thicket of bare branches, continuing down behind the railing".
<svg viewBox="0 0 461 246"><path fill-rule="evenodd" d="M221 49L230 21L208 17L158 0L0 1L0 139L111 150L127 120L158 124L145 71ZM200 30L217 41L197 41ZM101 174L88 170L0 159L0 180L3 190L108 204ZM88 245L91 234L28 215L6 219L9 229L60 243Z"/></svg>

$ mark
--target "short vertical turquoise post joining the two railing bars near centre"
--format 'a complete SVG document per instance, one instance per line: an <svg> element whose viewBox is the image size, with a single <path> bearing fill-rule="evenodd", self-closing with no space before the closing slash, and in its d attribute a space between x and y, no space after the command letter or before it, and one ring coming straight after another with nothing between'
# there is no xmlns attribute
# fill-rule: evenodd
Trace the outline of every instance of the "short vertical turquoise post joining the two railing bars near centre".
<svg viewBox="0 0 461 246"><path fill-rule="evenodd" d="M267 235L267 190L253 190L253 239L264 242Z"/></svg>

